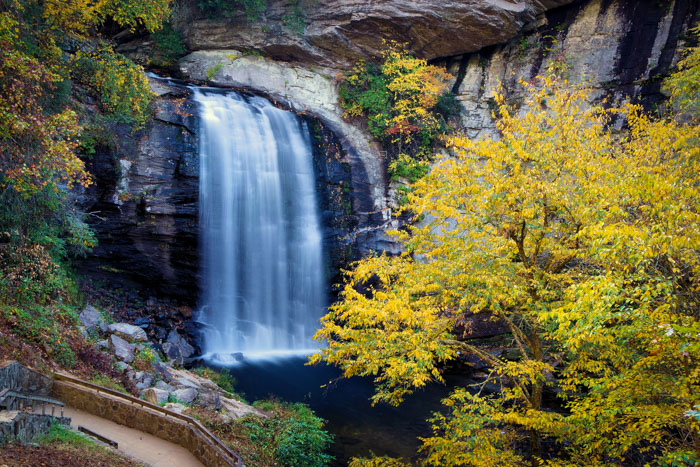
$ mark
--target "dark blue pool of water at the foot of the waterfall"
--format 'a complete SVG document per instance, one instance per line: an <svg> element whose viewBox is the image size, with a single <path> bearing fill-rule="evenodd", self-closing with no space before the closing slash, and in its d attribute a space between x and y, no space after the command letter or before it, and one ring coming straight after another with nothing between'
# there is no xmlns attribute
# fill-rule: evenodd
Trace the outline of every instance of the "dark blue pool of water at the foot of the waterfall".
<svg viewBox="0 0 700 467"><path fill-rule="evenodd" d="M426 421L441 408L440 400L457 383L434 384L408 398L399 407L371 406L372 381L368 378L338 380L340 372L324 365L305 366L305 358L240 363L228 367L236 378L236 390L246 400L270 396L289 402L304 402L328 421L335 437L331 454L336 465L347 465L352 457L377 455L415 458L419 436L431 434ZM326 385L326 387L321 387Z"/></svg>

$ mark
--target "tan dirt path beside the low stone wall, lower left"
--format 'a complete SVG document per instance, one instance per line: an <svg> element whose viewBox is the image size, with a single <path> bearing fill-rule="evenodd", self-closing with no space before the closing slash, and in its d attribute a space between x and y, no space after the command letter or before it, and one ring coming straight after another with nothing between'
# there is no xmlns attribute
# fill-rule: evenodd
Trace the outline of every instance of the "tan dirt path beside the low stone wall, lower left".
<svg viewBox="0 0 700 467"><path fill-rule="evenodd" d="M203 467L187 449L148 433L66 407L65 416L71 418L71 426L85 428L119 443L119 451L145 462L152 467Z"/></svg>

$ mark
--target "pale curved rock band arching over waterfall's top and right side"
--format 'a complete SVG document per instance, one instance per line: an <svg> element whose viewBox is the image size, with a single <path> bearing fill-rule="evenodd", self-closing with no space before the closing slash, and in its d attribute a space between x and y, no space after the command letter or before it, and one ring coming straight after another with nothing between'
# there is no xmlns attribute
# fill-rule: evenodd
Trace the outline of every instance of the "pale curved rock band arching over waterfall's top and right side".
<svg viewBox="0 0 700 467"><path fill-rule="evenodd" d="M381 148L366 132L343 119L332 70L312 71L236 50L193 52L180 61L180 70L188 79L254 90L282 107L317 118L330 132L326 139L333 141L333 147L317 148L317 171L322 177L330 174L327 181L331 185L345 183L343 188L350 190L346 195L354 226L352 232L346 232L352 237L349 244L364 253L396 249L383 233L392 221ZM319 165L318 161L325 162ZM341 166L334 166L336 163L345 167L344 179L339 178ZM322 200L329 196L325 186L319 193ZM359 237L355 235L358 229Z"/></svg>

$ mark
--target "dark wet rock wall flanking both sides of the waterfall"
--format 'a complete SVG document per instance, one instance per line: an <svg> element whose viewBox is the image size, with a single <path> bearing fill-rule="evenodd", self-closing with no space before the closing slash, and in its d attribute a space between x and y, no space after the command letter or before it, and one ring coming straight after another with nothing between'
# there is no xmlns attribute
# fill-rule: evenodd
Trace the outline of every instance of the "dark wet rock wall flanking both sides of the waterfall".
<svg viewBox="0 0 700 467"><path fill-rule="evenodd" d="M195 307L200 287L197 106L180 83L152 80L152 87L159 94L154 121L136 133L115 125L117 144L100 148L88 162L95 184L84 193L83 207L94 214L90 224L99 243L78 267L102 288ZM372 187L359 157L348 154L321 120L301 117L313 147L325 274L338 284L341 269L381 249L377 229L383 219L371 213Z"/></svg>

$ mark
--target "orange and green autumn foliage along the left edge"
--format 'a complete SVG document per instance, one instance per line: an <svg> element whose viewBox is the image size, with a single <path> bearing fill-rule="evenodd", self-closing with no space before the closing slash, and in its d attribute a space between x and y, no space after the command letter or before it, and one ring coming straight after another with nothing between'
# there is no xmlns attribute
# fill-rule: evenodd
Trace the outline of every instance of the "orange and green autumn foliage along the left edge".
<svg viewBox="0 0 700 467"><path fill-rule="evenodd" d="M81 122L101 111L105 120L139 127L150 115L143 69L100 40L100 28L108 22L153 31L169 14L168 5L0 0L3 356L78 363L75 351L84 338L76 327L77 288L66 260L96 244L73 198L91 183L79 154ZM88 68L89 74L80 73ZM99 105L87 109L76 94L92 94Z"/></svg>

